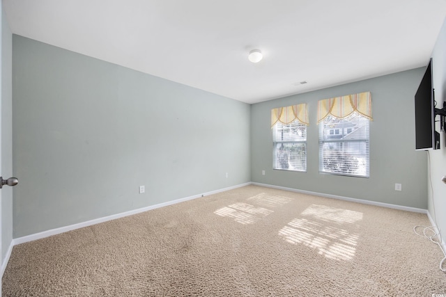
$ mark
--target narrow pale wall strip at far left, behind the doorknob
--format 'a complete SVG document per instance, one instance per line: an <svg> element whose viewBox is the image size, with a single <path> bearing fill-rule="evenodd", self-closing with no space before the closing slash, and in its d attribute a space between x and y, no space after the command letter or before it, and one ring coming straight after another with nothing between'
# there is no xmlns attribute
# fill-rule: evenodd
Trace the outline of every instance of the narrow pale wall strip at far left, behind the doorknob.
<svg viewBox="0 0 446 297"><path fill-rule="evenodd" d="M0 6L1 7L1 6ZM13 176L13 34L1 9L1 174ZM1 259L13 241L13 188L1 189Z"/></svg>

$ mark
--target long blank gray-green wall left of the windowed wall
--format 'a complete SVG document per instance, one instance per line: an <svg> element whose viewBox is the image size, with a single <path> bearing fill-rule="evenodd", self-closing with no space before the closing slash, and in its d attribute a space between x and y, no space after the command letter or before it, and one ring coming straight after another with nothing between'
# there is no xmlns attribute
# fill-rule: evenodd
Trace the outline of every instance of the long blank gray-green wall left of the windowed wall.
<svg viewBox="0 0 446 297"><path fill-rule="evenodd" d="M13 97L14 238L251 180L248 104L18 35Z"/></svg>

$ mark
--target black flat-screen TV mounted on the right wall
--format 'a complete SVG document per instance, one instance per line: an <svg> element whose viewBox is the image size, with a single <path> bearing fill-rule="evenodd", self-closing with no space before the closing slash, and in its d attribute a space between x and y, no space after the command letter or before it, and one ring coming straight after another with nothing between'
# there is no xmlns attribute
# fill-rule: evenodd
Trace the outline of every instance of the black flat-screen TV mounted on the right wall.
<svg viewBox="0 0 446 297"><path fill-rule="evenodd" d="M432 59L415 94L415 149L435 150L439 139L435 131L432 88Z"/></svg>

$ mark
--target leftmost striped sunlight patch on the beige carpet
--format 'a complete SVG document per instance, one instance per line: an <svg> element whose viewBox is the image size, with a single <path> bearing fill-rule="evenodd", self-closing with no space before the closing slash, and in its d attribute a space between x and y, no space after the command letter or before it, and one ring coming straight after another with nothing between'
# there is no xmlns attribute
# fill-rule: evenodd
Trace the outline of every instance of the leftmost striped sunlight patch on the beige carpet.
<svg viewBox="0 0 446 297"><path fill-rule="evenodd" d="M255 207L251 204L238 202L227 207L217 209L214 211L214 214L233 218L236 222L246 225L256 223L256 221L268 216L272 212L274 211L263 207Z"/></svg>

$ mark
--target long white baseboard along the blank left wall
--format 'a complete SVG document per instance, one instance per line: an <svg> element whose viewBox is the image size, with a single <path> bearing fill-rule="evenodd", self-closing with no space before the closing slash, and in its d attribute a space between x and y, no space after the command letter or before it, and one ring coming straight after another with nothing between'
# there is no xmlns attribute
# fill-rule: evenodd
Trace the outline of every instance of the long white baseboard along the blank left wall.
<svg viewBox="0 0 446 297"><path fill-rule="evenodd" d="M39 232L39 233L36 233L36 234L22 236L22 237L13 239L13 246L15 246L17 244L20 244L20 243L26 243L26 242L29 242L29 241L34 241L34 240L37 240L37 239L43 239L43 238L48 237L48 236L61 234L63 232L76 230L76 229L79 229L79 228L82 228L82 227L88 227L88 226L95 225L95 224L98 224L98 223L107 222L108 220L115 220L116 218L123 218L125 216L132 216L133 214L139 214L141 212L149 211L151 209L157 209L157 208L160 208L160 207L166 207L166 206L171 205L171 204L176 204L176 203L184 202L184 201L187 201L187 200L192 200L192 199L204 197L204 196L215 194L215 193L229 191L229 190L232 190L233 188L240 188L242 186L249 186L249 184L251 184L251 182L247 182L245 184L238 184L236 186L230 186L228 188L220 188L219 190L209 191L209 192L201 193L201 194L198 194L198 195L192 195L192 196L185 197L185 198L180 198L180 199L177 199L177 200L171 200L171 201L168 201L168 202L163 202L163 203L151 205L151 206L148 206L148 207L142 207L140 209L134 209L134 210L131 210L131 211L125 211L125 212L122 212L120 214L114 214L112 216L105 216L105 217L102 217L102 218L95 218L94 220L87 220L86 222L77 223L77 224L74 224L74 225L69 225L69 226L65 226L65 227L60 227L60 228L56 228L56 229L52 229L52 230ZM6 260L5 260L5 262L6 262Z"/></svg>

